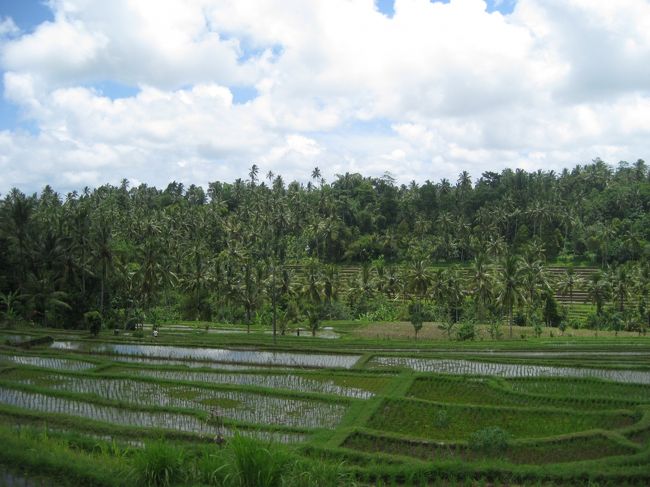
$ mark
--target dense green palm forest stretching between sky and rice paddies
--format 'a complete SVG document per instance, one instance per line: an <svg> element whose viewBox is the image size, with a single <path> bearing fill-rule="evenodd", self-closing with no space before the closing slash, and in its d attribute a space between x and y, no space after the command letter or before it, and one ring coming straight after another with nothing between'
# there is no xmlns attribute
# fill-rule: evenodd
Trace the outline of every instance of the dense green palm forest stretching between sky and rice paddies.
<svg viewBox="0 0 650 487"><path fill-rule="evenodd" d="M601 160L398 185L386 174L287 183L260 173L0 203L7 324L325 318L537 327L650 326L650 170ZM572 313L586 306L584 314ZM462 329L462 328L461 328Z"/></svg>

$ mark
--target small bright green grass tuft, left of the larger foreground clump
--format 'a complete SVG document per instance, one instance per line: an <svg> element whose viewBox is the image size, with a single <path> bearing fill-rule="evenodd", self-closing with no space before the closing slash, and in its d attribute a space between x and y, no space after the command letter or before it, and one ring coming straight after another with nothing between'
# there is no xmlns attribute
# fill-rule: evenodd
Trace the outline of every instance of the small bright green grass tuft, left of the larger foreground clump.
<svg viewBox="0 0 650 487"><path fill-rule="evenodd" d="M185 451L171 443L147 443L133 456L133 479L137 485L148 487L174 485L187 475L184 460Z"/></svg>

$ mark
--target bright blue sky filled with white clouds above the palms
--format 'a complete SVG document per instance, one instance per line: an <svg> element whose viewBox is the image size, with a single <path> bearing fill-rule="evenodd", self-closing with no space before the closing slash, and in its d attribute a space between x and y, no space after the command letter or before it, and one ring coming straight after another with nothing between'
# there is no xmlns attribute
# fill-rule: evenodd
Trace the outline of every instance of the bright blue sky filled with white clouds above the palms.
<svg viewBox="0 0 650 487"><path fill-rule="evenodd" d="M0 195L650 158L650 0L0 0Z"/></svg>

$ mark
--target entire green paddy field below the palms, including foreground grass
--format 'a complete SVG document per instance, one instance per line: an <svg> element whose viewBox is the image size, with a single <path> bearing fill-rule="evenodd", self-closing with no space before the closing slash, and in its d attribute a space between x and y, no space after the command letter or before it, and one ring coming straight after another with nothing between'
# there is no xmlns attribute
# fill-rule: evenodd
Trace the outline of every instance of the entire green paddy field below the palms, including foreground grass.
<svg viewBox="0 0 650 487"><path fill-rule="evenodd" d="M27 485L650 483L649 340L382 341L346 335L354 322L330 325L340 339L282 337L275 348L255 329L163 329L156 341L7 331L55 342L0 347L0 475Z"/></svg>

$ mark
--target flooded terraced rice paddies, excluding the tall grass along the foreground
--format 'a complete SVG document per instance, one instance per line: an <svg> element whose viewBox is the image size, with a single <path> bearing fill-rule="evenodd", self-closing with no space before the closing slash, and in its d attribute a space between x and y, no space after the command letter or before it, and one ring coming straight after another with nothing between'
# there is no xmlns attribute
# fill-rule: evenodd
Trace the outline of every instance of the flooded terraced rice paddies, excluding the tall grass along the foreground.
<svg viewBox="0 0 650 487"><path fill-rule="evenodd" d="M106 445L106 461L123 465L160 438L218 449L215 438L250 437L335 468L331 485L650 483L650 370L639 349L616 367L625 350L600 367L583 350L581 367L577 352L488 361L480 350L287 352L188 346L181 336L171 346L4 346L0 438L46 427ZM119 456L116 444L131 453Z"/></svg>

